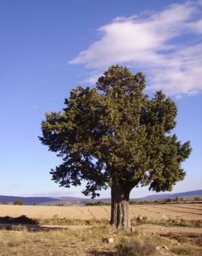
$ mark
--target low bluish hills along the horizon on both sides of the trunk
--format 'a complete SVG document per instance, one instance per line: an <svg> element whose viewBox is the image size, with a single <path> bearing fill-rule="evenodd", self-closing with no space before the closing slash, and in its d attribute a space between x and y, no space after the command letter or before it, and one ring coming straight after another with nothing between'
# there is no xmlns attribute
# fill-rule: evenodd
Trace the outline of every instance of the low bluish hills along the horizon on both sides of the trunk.
<svg viewBox="0 0 202 256"><path fill-rule="evenodd" d="M154 201L159 199L174 199L177 197L196 197L202 196L202 190L192 190L188 192L174 193L174 194L152 194L149 196L144 196L138 199L130 199L131 201ZM85 199L73 196L59 196L59 197L24 197L24 196L1 196L0 203L13 203L16 200L21 200L25 205L33 205L34 203L38 205L58 205L58 204L68 204L68 205L85 205L86 203L95 203L96 201L104 201L111 203L110 198L105 199Z"/></svg>

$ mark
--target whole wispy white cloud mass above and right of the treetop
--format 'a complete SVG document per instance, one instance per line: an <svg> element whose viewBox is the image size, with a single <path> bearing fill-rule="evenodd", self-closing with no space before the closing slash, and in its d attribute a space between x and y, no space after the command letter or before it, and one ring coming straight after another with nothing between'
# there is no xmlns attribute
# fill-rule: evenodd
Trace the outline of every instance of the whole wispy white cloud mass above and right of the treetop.
<svg viewBox="0 0 202 256"><path fill-rule="evenodd" d="M173 4L161 12L117 17L98 29L101 38L71 60L93 71L94 83L101 71L123 64L145 71L149 89L169 95L193 95L202 89L201 3Z"/></svg>

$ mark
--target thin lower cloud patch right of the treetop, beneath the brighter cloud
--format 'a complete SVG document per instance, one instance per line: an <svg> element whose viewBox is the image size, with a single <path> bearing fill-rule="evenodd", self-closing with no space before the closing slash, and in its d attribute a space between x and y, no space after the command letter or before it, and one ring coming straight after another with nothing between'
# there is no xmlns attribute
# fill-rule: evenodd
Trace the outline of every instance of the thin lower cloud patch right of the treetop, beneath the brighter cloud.
<svg viewBox="0 0 202 256"><path fill-rule="evenodd" d="M151 68L150 89L163 89L169 95L194 95L202 89L202 44L187 46L164 56L160 72Z"/></svg>

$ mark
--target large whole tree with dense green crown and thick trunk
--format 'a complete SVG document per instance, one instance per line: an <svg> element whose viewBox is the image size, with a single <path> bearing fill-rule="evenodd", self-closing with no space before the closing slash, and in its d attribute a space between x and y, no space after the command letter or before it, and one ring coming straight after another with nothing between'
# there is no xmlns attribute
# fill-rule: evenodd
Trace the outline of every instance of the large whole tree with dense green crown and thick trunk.
<svg viewBox="0 0 202 256"><path fill-rule="evenodd" d="M129 230L129 194L149 185L170 191L185 172L190 142L169 135L176 125L176 104L157 91L143 93L145 76L111 66L94 88L71 90L62 112L46 113L39 139L63 163L51 170L60 186L81 185L85 195L111 188L111 224Z"/></svg>

